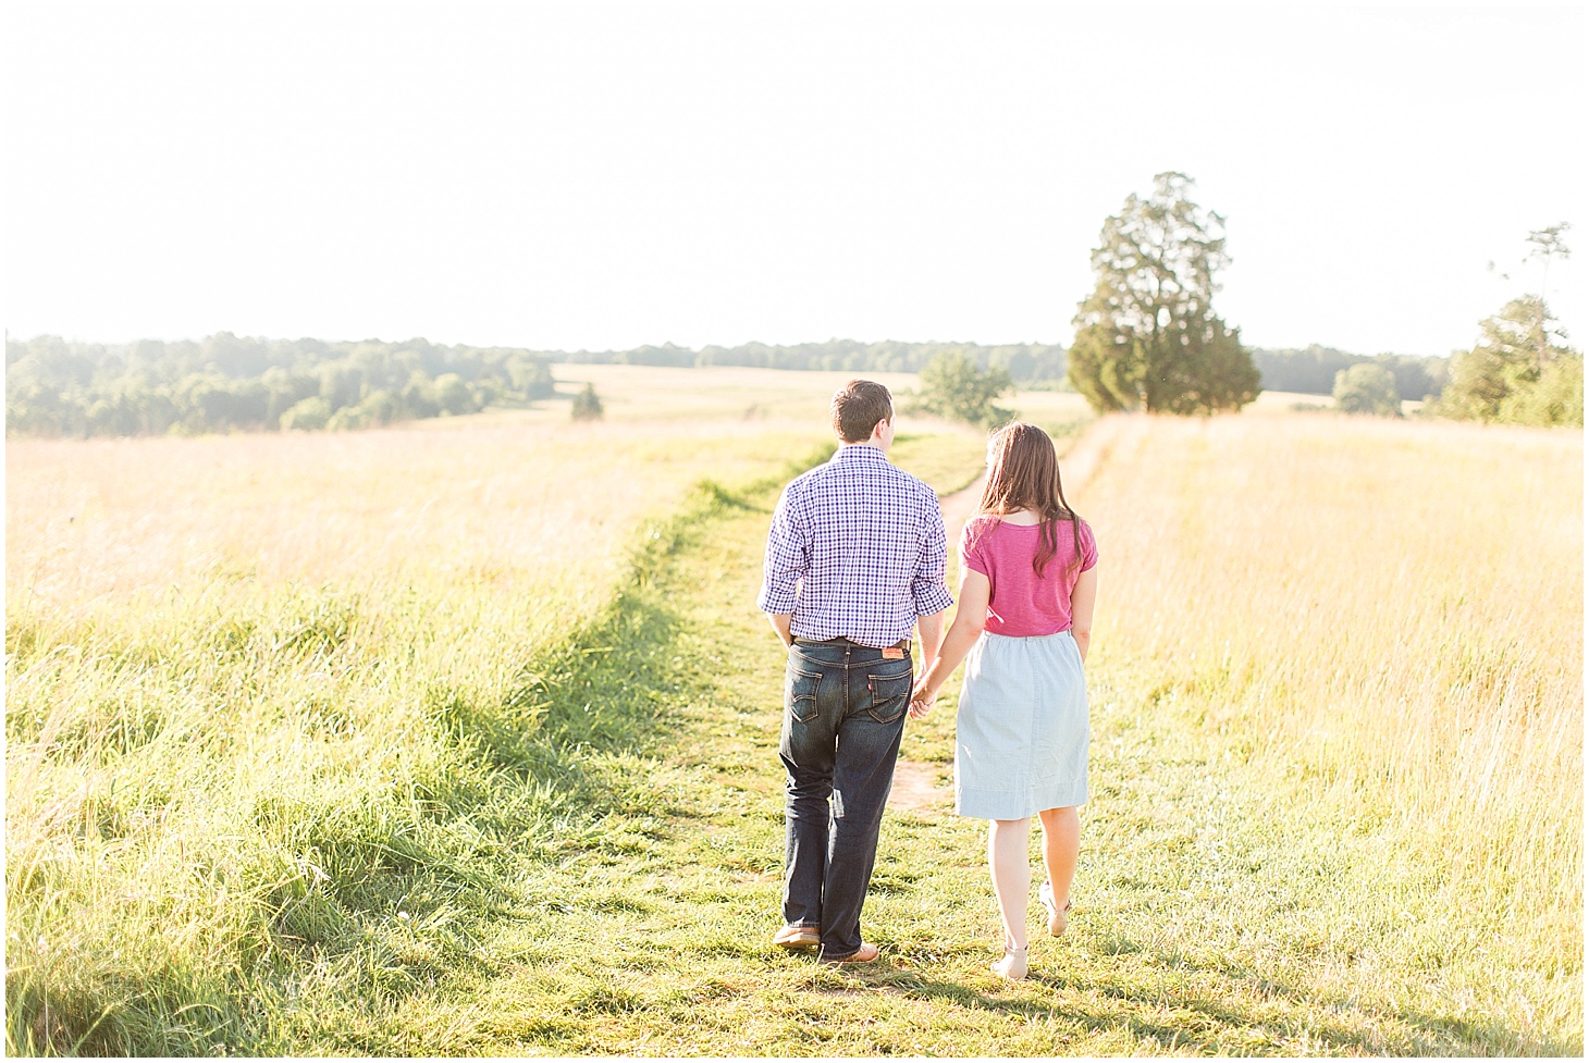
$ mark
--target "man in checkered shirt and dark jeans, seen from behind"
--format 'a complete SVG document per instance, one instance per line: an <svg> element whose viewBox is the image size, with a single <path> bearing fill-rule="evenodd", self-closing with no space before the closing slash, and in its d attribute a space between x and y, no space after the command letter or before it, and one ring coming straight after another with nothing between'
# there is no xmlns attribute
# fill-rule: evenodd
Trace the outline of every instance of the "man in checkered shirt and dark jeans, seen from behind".
<svg viewBox="0 0 1589 1063"><path fill-rule="evenodd" d="M783 928L772 944L866 963L861 904L910 701L910 629L944 639L944 516L891 466L893 399L871 380L833 396L839 451L783 488L758 605L790 648L783 683Z"/></svg>

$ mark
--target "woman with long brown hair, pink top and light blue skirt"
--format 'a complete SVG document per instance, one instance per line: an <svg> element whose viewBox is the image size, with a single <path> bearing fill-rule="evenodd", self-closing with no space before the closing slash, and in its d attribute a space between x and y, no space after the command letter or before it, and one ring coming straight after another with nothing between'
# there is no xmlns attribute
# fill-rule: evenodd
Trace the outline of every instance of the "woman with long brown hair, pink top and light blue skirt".
<svg viewBox="0 0 1589 1063"><path fill-rule="evenodd" d="M969 653L955 717L955 812L992 820L988 864L1004 922L993 972L1026 976L1026 834L1042 823L1039 890L1049 933L1065 933L1087 802L1082 663L1098 593L1092 529L1065 501L1047 434L1011 424L988 440L977 513L960 537L960 609L910 696L920 720Z"/></svg>

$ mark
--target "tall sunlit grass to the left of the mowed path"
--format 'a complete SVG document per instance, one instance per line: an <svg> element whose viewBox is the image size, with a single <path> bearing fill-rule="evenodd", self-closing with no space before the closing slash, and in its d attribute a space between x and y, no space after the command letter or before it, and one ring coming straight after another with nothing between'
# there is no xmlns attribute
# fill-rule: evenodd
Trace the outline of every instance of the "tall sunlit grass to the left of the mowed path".
<svg viewBox="0 0 1589 1063"><path fill-rule="evenodd" d="M817 439L8 443L11 1050L270 1053L294 1007L412 980L405 906L447 923L458 890L508 890L489 885L508 855L590 825L601 758L578 750L632 725L586 698L548 733L547 691L570 637L620 623L602 610L631 551L704 477L764 477Z"/></svg>

